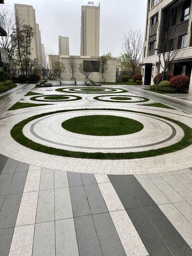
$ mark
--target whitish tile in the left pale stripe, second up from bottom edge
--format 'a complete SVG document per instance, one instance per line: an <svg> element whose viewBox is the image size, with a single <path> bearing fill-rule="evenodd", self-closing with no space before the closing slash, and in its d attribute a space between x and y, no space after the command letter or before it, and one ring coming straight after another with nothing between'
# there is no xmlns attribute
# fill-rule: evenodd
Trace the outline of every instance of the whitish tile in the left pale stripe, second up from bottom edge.
<svg viewBox="0 0 192 256"><path fill-rule="evenodd" d="M23 193L15 226L35 224L38 191Z"/></svg>

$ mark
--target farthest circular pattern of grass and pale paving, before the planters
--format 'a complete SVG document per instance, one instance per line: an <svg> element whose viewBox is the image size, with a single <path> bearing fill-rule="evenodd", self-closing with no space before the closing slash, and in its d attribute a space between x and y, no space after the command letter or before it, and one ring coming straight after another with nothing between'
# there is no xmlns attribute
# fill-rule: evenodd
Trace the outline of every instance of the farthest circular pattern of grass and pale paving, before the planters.
<svg viewBox="0 0 192 256"><path fill-rule="evenodd" d="M57 92L75 92L75 93L86 93L86 94L98 94L98 93L125 93L128 92L120 88L111 88L111 87L68 87L68 88L58 88L55 91Z"/></svg>

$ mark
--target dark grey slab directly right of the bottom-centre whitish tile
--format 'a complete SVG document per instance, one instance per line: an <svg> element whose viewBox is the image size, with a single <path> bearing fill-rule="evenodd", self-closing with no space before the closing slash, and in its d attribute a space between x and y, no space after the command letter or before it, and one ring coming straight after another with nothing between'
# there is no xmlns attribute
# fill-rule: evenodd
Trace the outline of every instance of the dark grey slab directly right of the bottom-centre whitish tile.
<svg viewBox="0 0 192 256"><path fill-rule="evenodd" d="M141 208L126 210L149 255L173 256Z"/></svg>

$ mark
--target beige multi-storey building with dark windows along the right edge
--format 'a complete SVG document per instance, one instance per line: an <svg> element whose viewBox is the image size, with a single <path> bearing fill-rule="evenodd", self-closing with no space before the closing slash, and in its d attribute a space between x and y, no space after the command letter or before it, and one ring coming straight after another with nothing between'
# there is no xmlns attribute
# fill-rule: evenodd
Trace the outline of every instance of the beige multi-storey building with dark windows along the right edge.
<svg viewBox="0 0 192 256"><path fill-rule="evenodd" d="M159 55L166 52L171 60L166 71L172 75L187 75L192 71L192 1L147 0L145 41L143 45L143 80L153 84L158 73ZM175 56L173 58L173 53ZM170 57L171 56L171 57ZM163 54L160 56L164 66ZM160 72L163 68L160 66Z"/></svg>

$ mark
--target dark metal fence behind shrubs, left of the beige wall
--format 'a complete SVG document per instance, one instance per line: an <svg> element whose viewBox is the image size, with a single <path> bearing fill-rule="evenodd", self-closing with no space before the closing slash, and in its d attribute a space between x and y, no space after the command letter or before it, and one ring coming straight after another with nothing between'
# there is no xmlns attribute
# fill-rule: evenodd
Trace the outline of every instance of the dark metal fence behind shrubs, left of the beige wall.
<svg viewBox="0 0 192 256"><path fill-rule="evenodd" d="M26 75L26 71L23 72L21 69L7 69L8 76L11 80L18 79L21 75ZM61 70L53 70L53 69L39 69L35 70L35 73L38 74L41 79L48 79L48 80L56 80L61 76ZM33 72L28 73L28 77L32 75Z"/></svg>

